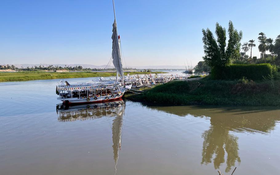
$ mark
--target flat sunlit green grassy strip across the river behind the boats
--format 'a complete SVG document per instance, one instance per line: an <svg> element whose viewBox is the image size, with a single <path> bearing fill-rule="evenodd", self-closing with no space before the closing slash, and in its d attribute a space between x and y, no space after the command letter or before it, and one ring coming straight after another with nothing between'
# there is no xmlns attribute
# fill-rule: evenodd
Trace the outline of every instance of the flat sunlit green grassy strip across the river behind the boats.
<svg viewBox="0 0 280 175"><path fill-rule="evenodd" d="M148 74L149 72L130 72L130 75ZM155 72L152 72L155 73ZM162 73L162 72L156 72ZM113 72L44 72L44 71L22 71L22 72L1 72L0 82L5 81L28 81L38 79L66 79L86 77L108 77L116 76Z"/></svg>

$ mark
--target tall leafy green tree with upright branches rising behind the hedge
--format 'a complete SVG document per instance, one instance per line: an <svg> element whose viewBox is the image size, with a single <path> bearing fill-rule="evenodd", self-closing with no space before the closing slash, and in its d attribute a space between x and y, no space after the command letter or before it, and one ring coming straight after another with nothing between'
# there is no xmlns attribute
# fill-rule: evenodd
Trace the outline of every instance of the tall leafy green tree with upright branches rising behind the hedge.
<svg viewBox="0 0 280 175"><path fill-rule="evenodd" d="M217 41L213 36L213 33L209 28L202 29L204 43L204 61L210 67L225 67L230 63L230 60L240 58L240 40L242 39L242 31L238 33L234 29L233 23L229 22L229 40L226 47L226 29L216 23L215 34L217 36Z"/></svg>

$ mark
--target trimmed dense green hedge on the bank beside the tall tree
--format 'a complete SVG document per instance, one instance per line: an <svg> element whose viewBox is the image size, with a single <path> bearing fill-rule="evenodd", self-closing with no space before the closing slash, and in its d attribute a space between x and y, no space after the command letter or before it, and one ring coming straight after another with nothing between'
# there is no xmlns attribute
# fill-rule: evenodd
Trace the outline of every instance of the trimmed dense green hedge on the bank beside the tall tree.
<svg viewBox="0 0 280 175"><path fill-rule="evenodd" d="M277 67L268 63L265 64L232 64L226 67L213 68L212 79L247 79L260 80L264 77L274 76Z"/></svg>

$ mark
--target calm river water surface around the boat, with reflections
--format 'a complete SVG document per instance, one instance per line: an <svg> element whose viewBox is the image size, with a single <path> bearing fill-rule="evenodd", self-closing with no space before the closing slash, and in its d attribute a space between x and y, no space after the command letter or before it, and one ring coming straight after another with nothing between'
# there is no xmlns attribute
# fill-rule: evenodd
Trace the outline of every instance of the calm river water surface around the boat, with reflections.
<svg viewBox="0 0 280 175"><path fill-rule="evenodd" d="M279 108L131 101L63 108L57 81L0 83L0 174L280 172Z"/></svg>

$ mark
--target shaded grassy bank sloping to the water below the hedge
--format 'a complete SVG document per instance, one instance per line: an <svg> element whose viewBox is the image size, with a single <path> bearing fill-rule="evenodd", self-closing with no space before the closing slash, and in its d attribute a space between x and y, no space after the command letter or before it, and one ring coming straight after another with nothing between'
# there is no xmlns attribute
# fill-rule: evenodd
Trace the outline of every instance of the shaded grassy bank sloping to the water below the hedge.
<svg viewBox="0 0 280 175"><path fill-rule="evenodd" d="M280 105L280 80L261 82L201 79L171 81L145 90L125 94L125 98L155 104Z"/></svg>

